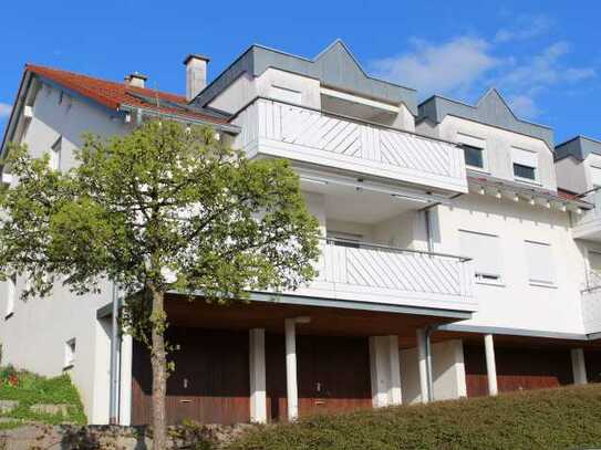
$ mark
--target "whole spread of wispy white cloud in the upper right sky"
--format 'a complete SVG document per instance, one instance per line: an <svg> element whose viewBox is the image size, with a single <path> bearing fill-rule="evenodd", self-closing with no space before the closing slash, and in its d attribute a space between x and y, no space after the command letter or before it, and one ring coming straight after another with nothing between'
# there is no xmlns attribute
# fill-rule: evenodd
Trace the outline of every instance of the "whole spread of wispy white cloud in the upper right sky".
<svg viewBox="0 0 601 450"><path fill-rule="evenodd" d="M530 28L526 22L524 30L518 28L518 21L515 29L499 30L494 40L460 35L437 44L414 39L407 52L376 60L371 67L382 79L416 88L421 98L437 93L469 102L495 86L507 95L518 116L533 118L541 114L538 101L543 92L580 88L597 72L592 66L569 64L571 49L566 41L533 53L508 53L518 46L502 43L542 34L552 23L545 17L529 20Z"/></svg>

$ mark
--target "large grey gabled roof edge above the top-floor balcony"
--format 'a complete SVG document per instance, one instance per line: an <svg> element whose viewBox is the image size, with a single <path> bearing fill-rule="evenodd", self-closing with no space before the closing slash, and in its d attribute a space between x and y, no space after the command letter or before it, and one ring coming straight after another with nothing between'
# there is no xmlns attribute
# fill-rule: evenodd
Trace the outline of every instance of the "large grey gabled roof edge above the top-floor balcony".
<svg viewBox="0 0 601 450"><path fill-rule="evenodd" d="M251 45L205 87L193 103L206 106L242 73L259 76L269 67L310 76L323 85L384 102L404 103L414 115L417 115L415 90L367 75L341 40L334 41L313 60L262 45Z"/></svg>

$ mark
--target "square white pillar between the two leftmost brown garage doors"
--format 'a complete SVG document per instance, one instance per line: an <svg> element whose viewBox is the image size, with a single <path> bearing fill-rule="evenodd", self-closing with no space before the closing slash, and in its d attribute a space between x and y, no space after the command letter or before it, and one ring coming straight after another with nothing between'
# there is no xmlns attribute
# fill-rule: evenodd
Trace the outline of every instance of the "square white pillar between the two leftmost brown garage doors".
<svg viewBox="0 0 601 450"><path fill-rule="evenodd" d="M265 329L249 331L250 421L267 423Z"/></svg>

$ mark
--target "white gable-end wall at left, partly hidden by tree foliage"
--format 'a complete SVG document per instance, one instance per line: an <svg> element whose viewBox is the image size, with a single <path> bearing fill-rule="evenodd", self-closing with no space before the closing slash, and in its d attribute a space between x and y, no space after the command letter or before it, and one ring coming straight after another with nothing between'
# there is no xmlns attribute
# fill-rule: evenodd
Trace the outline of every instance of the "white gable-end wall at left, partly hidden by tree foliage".
<svg viewBox="0 0 601 450"><path fill-rule="evenodd" d="M22 142L39 157L62 135L63 169L75 164L73 149L81 146L82 133L93 130L110 136L127 129L122 119L111 119L107 112L85 101L68 95L63 95L61 104L59 100L60 92L55 88L44 86L39 91L33 118ZM18 292L23 283L24 279L18 280ZM0 292L7 292L6 283L0 285ZM0 295L2 364L46 376L60 375L65 343L75 338L75 364L69 374L80 390L89 420L95 423L106 422L108 417L108 337L96 321L96 310L110 299L107 289L97 295L75 296L59 284L49 297L27 303L17 300L14 314L4 321L7 295Z"/></svg>

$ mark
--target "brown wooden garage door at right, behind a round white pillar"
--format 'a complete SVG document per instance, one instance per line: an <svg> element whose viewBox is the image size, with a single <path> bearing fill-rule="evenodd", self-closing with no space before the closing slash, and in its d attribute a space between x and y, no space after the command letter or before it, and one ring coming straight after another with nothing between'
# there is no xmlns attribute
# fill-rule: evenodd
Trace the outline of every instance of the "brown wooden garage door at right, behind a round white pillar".
<svg viewBox="0 0 601 450"><path fill-rule="evenodd" d="M464 346L467 396L488 395L484 346ZM570 352L495 347L499 393L559 387L573 383Z"/></svg>

